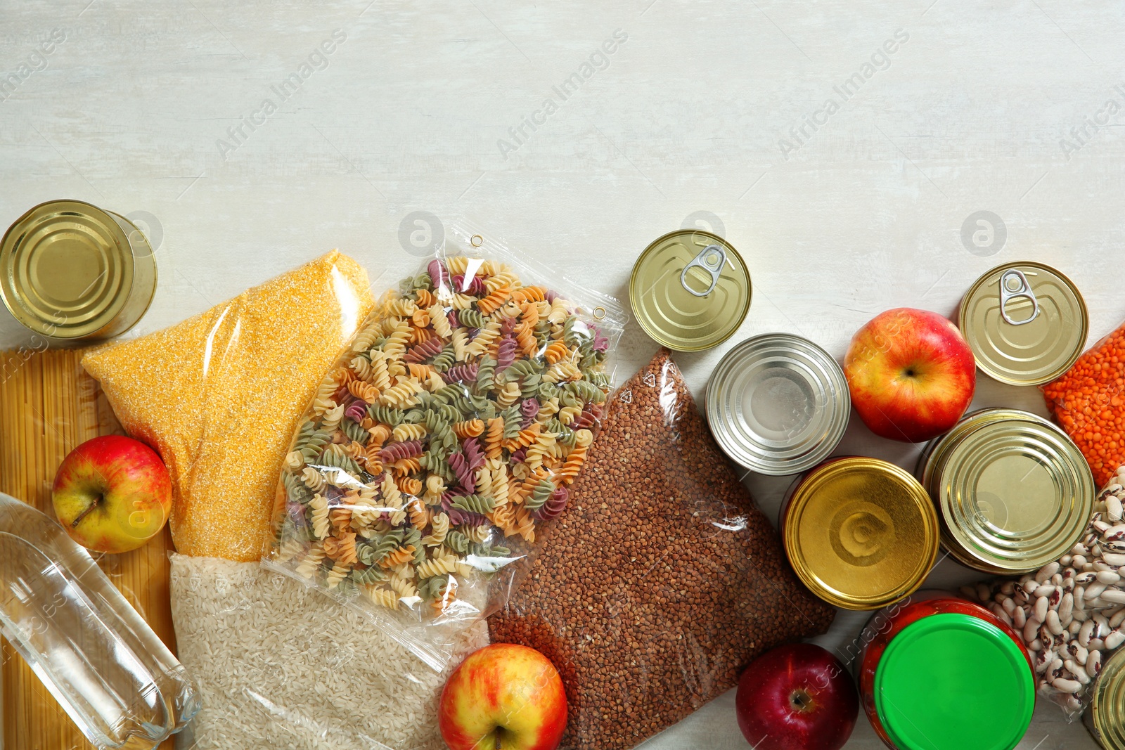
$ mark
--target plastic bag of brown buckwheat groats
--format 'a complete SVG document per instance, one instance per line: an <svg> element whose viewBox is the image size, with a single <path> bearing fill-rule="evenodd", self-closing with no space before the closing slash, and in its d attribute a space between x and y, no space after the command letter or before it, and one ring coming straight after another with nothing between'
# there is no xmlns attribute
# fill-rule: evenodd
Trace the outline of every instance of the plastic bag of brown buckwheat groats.
<svg viewBox="0 0 1125 750"><path fill-rule="evenodd" d="M558 667L561 748L632 748L734 687L757 654L831 623L666 350L611 399L556 523L489 630Z"/></svg>

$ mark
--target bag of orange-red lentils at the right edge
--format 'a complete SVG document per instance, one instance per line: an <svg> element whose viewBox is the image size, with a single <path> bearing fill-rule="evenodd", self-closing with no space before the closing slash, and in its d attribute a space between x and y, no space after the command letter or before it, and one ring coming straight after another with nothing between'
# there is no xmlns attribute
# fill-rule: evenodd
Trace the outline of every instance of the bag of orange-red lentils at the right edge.
<svg viewBox="0 0 1125 750"><path fill-rule="evenodd" d="M1055 422L1090 463L1095 481L1107 484L1125 464L1125 325L1041 389Z"/></svg>

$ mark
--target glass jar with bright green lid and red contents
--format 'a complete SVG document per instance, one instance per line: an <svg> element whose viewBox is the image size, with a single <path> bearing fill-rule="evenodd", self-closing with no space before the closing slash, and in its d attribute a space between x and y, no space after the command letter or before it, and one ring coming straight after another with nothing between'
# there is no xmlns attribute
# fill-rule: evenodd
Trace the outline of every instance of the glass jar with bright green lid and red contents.
<svg viewBox="0 0 1125 750"><path fill-rule="evenodd" d="M926 594L876 614L861 641L860 699L892 750L1011 750L1027 732L1034 668L984 607Z"/></svg>

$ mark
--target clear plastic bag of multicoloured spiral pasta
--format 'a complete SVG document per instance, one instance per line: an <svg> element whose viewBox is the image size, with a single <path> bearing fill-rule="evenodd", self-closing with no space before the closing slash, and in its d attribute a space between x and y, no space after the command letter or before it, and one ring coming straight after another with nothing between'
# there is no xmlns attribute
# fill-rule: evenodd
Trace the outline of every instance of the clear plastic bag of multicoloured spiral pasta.
<svg viewBox="0 0 1125 750"><path fill-rule="evenodd" d="M388 291L294 435L266 564L434 669L567 505L610 390L615 300L466 224Z"/></svg>

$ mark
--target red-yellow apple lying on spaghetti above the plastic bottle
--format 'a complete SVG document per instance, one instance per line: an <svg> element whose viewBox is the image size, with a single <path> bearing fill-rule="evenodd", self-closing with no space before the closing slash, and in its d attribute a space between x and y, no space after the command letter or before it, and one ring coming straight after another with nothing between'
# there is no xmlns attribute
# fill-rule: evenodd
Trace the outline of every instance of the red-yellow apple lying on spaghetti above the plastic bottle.
<svg viewBox="0 0 1125 750"><path fill-rule="evenodd" d="M51 499L75 542L96 552L128 552L164 527L172 479L144 443L104 435L66 454Z"/></svg>

